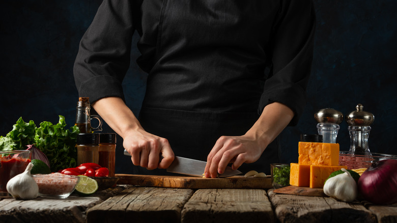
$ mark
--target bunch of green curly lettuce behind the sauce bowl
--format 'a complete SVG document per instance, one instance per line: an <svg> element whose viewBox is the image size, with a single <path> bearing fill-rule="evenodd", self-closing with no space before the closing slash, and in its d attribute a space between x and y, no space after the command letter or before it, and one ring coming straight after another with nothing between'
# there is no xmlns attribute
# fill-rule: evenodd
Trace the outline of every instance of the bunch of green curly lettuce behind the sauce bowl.
<svg viewBox="0 0 397 223"><path fill-rule="evenodd" d="M48 158L51 172L76 166L76 138L80 131L73 125L66 128L65 117L59 116L58 124L42 122L37 127L31 120L18 119L6 137L0 136L0 150L25 150L35 144Z"/></svg>

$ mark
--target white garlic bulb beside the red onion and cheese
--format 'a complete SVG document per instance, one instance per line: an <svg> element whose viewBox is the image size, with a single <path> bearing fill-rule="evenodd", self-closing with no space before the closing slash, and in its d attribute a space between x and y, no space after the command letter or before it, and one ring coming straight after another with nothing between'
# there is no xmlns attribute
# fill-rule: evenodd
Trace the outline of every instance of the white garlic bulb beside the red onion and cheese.
<svg viewBox="0 0 397 223"><path fill-rule="evenodd" d="M324 184L324 193L331 198L344 202L354 201L357 197L357 184L350 173L342 168L343 174L329 178Z"/></svg>

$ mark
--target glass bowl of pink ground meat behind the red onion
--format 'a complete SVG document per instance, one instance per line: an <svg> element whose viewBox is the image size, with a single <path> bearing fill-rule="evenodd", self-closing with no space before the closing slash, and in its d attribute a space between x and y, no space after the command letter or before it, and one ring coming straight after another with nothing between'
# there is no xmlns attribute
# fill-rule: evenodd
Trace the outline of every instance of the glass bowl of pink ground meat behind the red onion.
<svg viewBox="0 0 397 223"><path fill-rule="evenodd" d="M339 165L346 165L349 170L369 168L372 163L382 159L397 159L397 155L381 153L358 155L350 151L339 151Z"/></svg>

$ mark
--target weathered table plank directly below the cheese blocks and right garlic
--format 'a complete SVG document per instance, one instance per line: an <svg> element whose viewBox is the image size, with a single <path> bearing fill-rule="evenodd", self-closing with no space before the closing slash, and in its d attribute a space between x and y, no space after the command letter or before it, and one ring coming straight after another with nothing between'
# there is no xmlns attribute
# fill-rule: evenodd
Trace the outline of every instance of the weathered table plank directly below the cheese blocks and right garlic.
<svg viewBox="0 0 397 223"><path fill-rule="evenodd" d="M290 222L377 222L376 215L357 202L333 198L277 194L268 190L278 220Z"/></svg>

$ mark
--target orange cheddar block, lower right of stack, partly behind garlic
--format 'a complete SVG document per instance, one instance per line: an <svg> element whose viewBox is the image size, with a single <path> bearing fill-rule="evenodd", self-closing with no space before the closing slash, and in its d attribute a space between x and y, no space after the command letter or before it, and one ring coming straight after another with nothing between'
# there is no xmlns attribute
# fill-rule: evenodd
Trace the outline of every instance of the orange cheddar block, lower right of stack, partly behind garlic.
<svg viewBox="0 0 397 223"><path fill-rule="evenodd" d="M325 180L335 171L347 169L345 165L310 165L310 188L323 188Z"/></svg>

